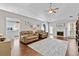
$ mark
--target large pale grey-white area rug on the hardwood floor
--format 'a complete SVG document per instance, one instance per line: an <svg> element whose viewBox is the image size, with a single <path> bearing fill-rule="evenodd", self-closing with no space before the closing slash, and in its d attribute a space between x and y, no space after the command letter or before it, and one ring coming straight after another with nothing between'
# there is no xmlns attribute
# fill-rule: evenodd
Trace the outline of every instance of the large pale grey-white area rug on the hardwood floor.
<svg viewBox="0 0 79 59"><path fill-rule="evenodd" d="M46 38L28 46L43 56L65 56L68 42Z"/></svg>

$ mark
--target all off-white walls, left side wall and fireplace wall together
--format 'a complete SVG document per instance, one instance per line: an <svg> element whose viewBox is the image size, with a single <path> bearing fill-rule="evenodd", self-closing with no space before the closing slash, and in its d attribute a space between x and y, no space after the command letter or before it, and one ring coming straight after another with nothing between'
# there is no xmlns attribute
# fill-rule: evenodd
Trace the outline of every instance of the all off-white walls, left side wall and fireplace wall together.
<svg viewBox="0 0 79 59"><path fill-rule="evenodd" d="M26 17L26 16L22 16L22 15L18 15L18 14L14 14L11 12L7 12L4 10L0 10L0 34L4 34L5 35L5 28L6 28L6 17L10 17L10 18L17 18L18 20L21 20L21 31L26 31L26 30L30 30L31 28L27 25L27 22L31 23L32 25L37 24L37 25L42 25L43 23L47 24L47 31L48 31L48 23L47 22L42 22L40 20L34 19L34 18L30 18L30 17ZM26 21L26 22L25 22ZM69 21L55 21L55 22L50 22L49 26L53 27L53 35L56 36L56 32L57 31L64 31L64 36L67 36L67 23L70 21L74 21L74 20L69 20ZM75 20L76 21L76 20ZM56 24L65 24L65 26L63 27L57 27ZM31 29L32 30L32 29Z"/></svg>

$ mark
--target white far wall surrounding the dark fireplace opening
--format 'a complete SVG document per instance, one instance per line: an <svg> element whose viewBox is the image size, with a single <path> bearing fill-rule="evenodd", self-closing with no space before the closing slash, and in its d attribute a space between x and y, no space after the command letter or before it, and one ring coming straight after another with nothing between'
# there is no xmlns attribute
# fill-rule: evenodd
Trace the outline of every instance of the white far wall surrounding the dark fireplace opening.
<svg viewBox="0 0 79 59"><path fill-rule="evenodd" d="M64 37L68 37L68 23L71 21L74 22L76 20L50 22L49 26L53 27L53 36L57 36L57 31L63 31Z"/></svg>

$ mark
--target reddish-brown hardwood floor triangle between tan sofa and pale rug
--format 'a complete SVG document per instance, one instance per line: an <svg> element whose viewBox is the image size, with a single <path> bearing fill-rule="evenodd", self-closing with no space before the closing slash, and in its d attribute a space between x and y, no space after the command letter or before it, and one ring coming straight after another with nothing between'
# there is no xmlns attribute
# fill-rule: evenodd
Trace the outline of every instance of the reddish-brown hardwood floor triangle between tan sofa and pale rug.
<svg viewBox="0 0 79 59"><path fill-rule="evenodd" d="M31 49L27 45L21 43L20 47L21 47L21 56L41 56L41 54Z"/></svg>

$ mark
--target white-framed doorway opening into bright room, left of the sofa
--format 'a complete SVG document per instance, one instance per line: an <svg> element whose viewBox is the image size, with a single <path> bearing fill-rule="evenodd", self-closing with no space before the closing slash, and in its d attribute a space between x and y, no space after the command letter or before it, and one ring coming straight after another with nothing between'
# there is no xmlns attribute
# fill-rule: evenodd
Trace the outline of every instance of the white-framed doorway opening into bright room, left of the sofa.
<svg viewBox="0 0 79 59"><path fill-rule="evenodd" d="M20 20L6 18L6 36L10 39L20 38Z"/></svg>

